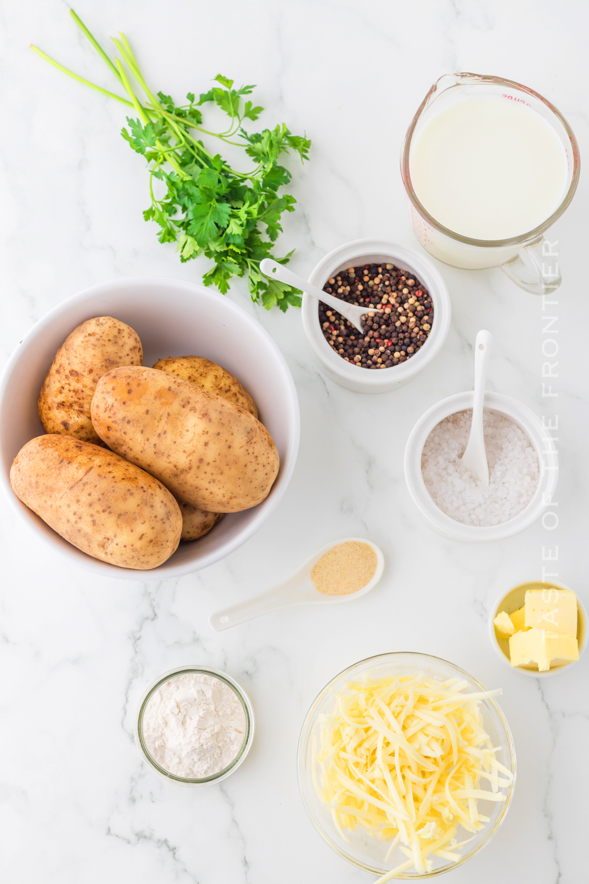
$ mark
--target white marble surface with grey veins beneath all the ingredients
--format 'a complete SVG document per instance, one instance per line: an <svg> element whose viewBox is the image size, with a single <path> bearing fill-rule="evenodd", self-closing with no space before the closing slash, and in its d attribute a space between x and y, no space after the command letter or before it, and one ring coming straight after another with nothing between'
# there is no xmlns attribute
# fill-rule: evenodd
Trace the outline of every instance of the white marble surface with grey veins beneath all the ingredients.
<svg viewBox="0 0 589 884"><path fill-rule="evenodd" d="M321 255L360 236L415 245L397 157L404 130L443 72L500 73L551 98L581 152L589 135L585 4L508 0L81 0L106 39L125 31L156 88L184 95L221 71L260 84L264 124L306 129L312 159L295 171L298 212L281 239L307 274ZM118 132L124 112L44 65L40 45L109 85L57 0L3 0L0 266L2 358L65 297L139 274L198 280L141 210L147 175ZM218 37L218 39L216 39ZM586 589L587 348L581 179L555 227L561 245L558 399L540 395L540 300L500 271L440 265L454 316L442 354L398 392L362 397L326 383L307 351L298 312L248 305L288 359L302 437L276 515L230 558L178 581L100 580L41 545L6 501L0 613L0 878L6 884L369 884L373 878L321 841L298 797L298 731L318 690L376 652L429 652L502 685L513 730L517 788L495 839L452 884L579 884L586 866L585 764L589 654L538 682L504 667L487 638L500 591L540 576L542 546L559 547L560 579ZM461 545L428 530L404 487L404 441L434 401L466 389L472 341L492 331L490 385L539 414L559 415L560 523L495 545ZM372 537L388 567L355 604L292 609L215 634L208 614L270 586L332 539ZM142 766L132 741L138 697L185 662L225 669L248 690L258 732L238 773L220 786L177 789Z"/></svg>

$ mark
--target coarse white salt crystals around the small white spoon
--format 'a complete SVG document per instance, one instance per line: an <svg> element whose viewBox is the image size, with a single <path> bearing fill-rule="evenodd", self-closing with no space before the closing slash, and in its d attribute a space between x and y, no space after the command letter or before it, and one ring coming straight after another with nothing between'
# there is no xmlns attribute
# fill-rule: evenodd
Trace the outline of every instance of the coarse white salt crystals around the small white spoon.
<svg viewBox="0 0 589 884"><path fill-rule="evenodd" d="M464 469L472 408L437 424L421 454L427 491L442 513L463 525L490 528L509 522L530 503L540 480L538 455L517 423L485 408L483 431L489 466L485 485Z"/></svg>

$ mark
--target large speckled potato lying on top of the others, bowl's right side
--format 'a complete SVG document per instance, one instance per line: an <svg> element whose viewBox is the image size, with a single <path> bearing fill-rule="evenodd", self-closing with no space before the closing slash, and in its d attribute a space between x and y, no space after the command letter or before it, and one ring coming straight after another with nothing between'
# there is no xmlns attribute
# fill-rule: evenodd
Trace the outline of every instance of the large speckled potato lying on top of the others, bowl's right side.
<svg viewBox="0 0 589 884"><path fill-rule="evenodd" d="M109 448L179 501L208 512L255 507L276 479L276 445L253 415L166 372L137 366L107 372L91 414Z"/></svg>

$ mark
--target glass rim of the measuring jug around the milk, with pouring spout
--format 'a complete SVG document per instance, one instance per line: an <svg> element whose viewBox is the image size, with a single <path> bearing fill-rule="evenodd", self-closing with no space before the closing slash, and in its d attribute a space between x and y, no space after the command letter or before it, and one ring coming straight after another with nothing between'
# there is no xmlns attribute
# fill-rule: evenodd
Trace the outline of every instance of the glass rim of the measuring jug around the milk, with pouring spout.
<svg viewBox="0 0 589 884"><path fill-rule="evenodd" d="M533 230L519 233L517 236L511 236L506 240L475 240L472 239L472 237L463 236L462 233L454 232L450 230L449 227L444 227L444 225L440 224L439 221L436 221L435 218L429 214L425 206L421 202L419 202L418 196L413 189L411 172L409 168L409 154L412 145L412 136L415 131L415 127L419 123L421 114L424 110L426 110L426 105L429 102L429 99L432 95L434 95L435 92L438 91L438 84L446 77L470 78L473 82L478 81L480 84L493 84L497 86L504 86L506 88L518 89L521 92L527 93L527 95L532 95L533 98L537 99L543 104L546 104L547 108L552 111L552 113L563 126L564 131L567 133L573 154L573 170L572 178L570 179L569 189L567 190L566 194L564 194L563 200L556 207L552 215L547 217L540 225L534 227ZM456 85L459 85L459 81L457 81ZM575 137L575 133L570 128L569 123L563 117L563 114L560 112L560 110L558 110L558 108L556 108L552 102L549 102L547 98L544 98L543 95L540 95L539 92L535 92L533 89L524 86L522 83L517 83L516 80L504 80L502 77L495 77L491 74L471 72L442 74L442 77L439 77L434 82L434 85L432 86L432 88L430 88L426 97L419 105L419 108L416 111L415 116L412 118L412 122L409 128L407 129L407 133L405 134L403 142L403 147L401 148L401 178L403 179L405 193L407 194L408 199L410 200L410 202L412 202L412 205L415 207L415 209L418 210L419 215L425 218L427 220L427 223L434 227L434 230L443 233L445 236L449 236L450 239L462 242L464 243L464 245L467 246L476 246L478 248L505 248L510 246L529 244L534 240L540 240L542 233L547 231L547 229L551 227L555 223L555 221L558 220L559 217L561 217L564 210L568 209L570 202L575 195L575 191L577 190L579 174L580 157L578 141Z"/></svg>

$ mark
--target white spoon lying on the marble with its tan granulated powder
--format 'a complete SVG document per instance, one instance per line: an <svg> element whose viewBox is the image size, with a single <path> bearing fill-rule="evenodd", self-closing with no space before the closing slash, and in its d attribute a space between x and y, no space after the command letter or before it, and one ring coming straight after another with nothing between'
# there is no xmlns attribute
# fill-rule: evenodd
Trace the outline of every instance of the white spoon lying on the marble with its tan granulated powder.
<svg viewBox="0 0 589 884"><path fill-rule="evenodd" d="M379 582L384 556L363 537L348 537L324 546L295 575L274 590L212 613L216 632L292 605L335 605L365 596Z"/></svg>

